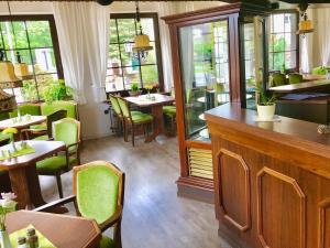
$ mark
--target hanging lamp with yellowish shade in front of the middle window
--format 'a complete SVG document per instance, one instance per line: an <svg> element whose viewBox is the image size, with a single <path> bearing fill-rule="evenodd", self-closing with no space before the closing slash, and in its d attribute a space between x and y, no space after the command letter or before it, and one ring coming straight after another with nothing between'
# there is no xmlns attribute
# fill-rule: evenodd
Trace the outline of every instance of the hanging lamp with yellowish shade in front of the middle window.
<svg viewBox="0 0 330 248"><path fill-rule="evenodd" d="M134 46L133 53L136 58L141 58L145 61L147 58L147 51L153 50L153 46L150 45L150 37L146 34L143 34L142 25L141 25L141 18L140 18L140 9L139 9L139 1L135 2L136 4L136 24L140 29L140 34L138 34L134 39Z"/></svg>

